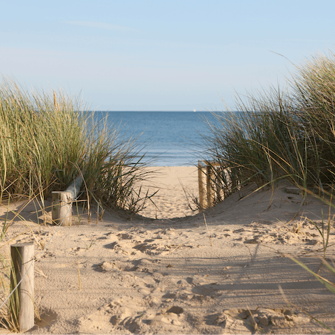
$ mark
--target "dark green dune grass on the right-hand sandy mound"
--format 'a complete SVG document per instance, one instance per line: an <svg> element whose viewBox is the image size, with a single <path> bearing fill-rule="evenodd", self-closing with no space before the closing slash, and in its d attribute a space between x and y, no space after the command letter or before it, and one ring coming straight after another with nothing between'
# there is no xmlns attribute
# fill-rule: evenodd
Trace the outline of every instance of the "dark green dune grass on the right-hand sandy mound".
<svg viewBox="0 0 335 335"><path fill-rule="evenodd" d="M330 208L335 208L335 54L316 54L298 64L283 88L237 95L236 109L239 112L214 113L214 123L206 120L209 135L203 137L203 151L209 161L220 163L219 168L212 167L216 170L213 183L234 192L236 185L247 184L255 190L274 189L284 180L301 190L301 204L308 194L327 203L327 223L322 217L320 227L313 224L322 237L322 265L335 274L334 262L326 260L329 234L334 230ZM335 292L333 282L292 260Z"/></svg>

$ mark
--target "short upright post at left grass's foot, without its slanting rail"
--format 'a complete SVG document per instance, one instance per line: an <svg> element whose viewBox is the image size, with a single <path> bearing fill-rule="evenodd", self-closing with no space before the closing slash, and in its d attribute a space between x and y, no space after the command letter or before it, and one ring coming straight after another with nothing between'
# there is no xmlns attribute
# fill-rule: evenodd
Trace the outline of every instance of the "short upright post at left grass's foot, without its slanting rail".
<svg viewBox="0 0 335 335"><path fill-rule="evenodd" d="M52 192L52 221L59 225L72 225L72 195L70 192Z"/></svg>

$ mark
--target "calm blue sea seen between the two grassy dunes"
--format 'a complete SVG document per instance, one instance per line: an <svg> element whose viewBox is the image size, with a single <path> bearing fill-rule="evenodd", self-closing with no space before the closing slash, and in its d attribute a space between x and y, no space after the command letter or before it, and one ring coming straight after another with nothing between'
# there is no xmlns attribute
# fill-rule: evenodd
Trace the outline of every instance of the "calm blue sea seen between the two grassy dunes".
<svg viewBox="0 0 335 335"><path fill-rule="evenodd" d="M144 160L155 166L193 165L201 158L202 137L208 133L204 118L214 121L211 112L96 112L99 119L119 126L126 137L138 137L148 144ZM141 135L142 134L142 135Z"/></svg>

